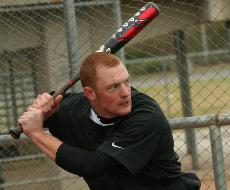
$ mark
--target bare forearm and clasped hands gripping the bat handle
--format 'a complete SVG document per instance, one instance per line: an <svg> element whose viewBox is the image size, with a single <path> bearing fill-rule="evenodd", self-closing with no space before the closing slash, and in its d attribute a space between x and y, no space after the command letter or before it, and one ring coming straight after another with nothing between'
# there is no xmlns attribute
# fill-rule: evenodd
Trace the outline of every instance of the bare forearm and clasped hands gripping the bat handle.
<svg viewBox="0 0 230 190"><path fill-rule="evenodd" d="M63 142L46 133L43 129L43 122L56 111L61 99L62 96L54 100L48 93L43 93L18 119L25 135L52 160L55 160L57 149Z"/></svg>

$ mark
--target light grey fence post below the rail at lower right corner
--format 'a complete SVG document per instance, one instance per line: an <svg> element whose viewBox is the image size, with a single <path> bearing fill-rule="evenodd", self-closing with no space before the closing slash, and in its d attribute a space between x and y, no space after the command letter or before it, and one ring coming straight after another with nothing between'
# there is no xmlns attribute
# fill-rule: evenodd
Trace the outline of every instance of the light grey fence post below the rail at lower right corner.
<svg viewBox="0 0 230 190"><path fill-rule="evenodd" d="M227 190L220 127L210 125L209 132L216 190Z"/></svg>

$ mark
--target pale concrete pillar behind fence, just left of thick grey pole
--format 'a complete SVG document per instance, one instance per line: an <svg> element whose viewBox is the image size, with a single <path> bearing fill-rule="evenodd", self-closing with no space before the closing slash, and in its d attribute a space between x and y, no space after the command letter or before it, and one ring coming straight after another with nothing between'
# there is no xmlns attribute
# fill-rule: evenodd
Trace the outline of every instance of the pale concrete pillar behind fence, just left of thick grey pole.
<svg viewBox="0 0 230 190"><path fill-rule="evenodd" d="M67 81L69 75L64 23L52 19L46 20L43 34L42 48L45 56L41 64L44 64L46 69L46 81L49 83L46 87L55 90L55 87L60 87Z"/></svg>

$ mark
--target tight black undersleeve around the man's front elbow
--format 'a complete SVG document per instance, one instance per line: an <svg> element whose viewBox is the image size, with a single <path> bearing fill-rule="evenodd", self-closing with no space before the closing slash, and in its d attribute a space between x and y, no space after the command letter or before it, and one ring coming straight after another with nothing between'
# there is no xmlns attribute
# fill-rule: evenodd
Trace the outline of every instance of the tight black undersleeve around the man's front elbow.
<svg viewBox="0 0 230 190"><path fill-rule="evenodd" d="M65 143L59 147L55 161L64 170L87 178L104 175L122 167L99 150L90 152Z"/></svg>

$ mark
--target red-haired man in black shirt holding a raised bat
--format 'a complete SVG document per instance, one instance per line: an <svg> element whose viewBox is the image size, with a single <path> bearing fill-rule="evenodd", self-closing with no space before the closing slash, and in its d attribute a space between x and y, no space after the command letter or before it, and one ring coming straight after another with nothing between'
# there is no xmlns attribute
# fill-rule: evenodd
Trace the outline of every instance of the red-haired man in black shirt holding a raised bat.
<svg viewBox="0 0 230 190"><path fill-rule="evenodd" d="M39 95L18 120L57 165L92 190L199 189L181 173L170 125L158 104L130 85L114 55L89 55L80 68L83 93ZM45 133L43 122L52 135Z"/></svg>

